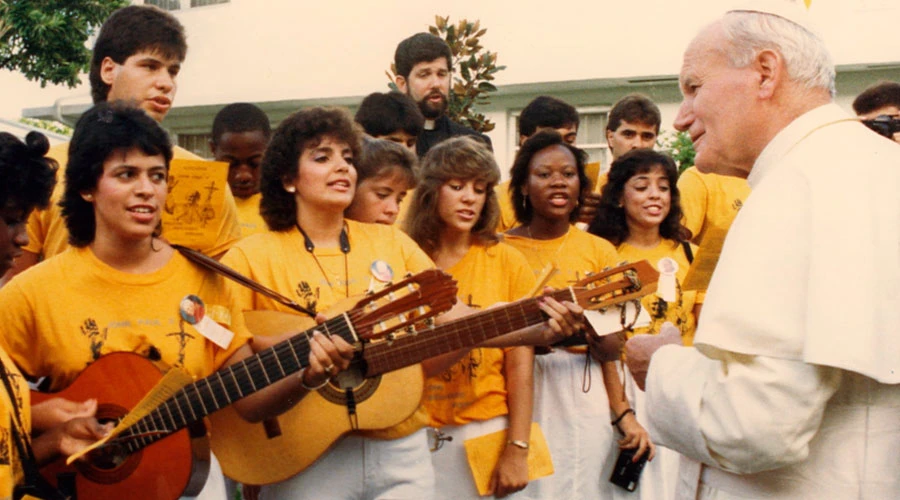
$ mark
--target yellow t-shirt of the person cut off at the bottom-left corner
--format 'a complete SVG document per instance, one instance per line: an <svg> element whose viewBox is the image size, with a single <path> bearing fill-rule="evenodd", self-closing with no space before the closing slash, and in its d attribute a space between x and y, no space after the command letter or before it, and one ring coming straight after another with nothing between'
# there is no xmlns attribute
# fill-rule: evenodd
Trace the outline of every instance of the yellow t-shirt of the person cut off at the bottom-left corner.
<svg viewBox="0 0 900 500"><path fill-rule="evenodd" d="M13 488L22 484L24 479L22 457L16 447L12 426L16 426L20 433L24 432L28 439L31 433L31 396L25 377L3 349L0 349L0 370L6 372L13 389L13 394L9 394L6 385L0 385L0 498L12 498ZM18 429L15 411L18 411L24 429Z"/></svg>

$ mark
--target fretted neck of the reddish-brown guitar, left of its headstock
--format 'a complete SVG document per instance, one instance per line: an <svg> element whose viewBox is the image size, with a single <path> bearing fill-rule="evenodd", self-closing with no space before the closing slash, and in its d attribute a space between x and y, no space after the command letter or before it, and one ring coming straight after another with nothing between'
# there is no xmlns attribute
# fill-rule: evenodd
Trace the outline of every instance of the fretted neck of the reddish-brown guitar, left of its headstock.
<svg viewBox="0 0 900 500"><path fill-rule="evenodd" d="M309 365L309 337L313 330L356 342L350 318L334 317L288 340L258 352L212 375L188 384L121 435L134 453L207 415L299 372Z"/></svg>

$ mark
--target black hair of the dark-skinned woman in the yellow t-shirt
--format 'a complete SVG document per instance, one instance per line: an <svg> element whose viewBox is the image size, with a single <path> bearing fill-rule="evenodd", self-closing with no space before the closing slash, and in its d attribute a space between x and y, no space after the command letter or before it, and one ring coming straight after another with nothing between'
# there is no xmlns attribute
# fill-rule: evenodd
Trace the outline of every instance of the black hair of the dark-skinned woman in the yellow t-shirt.
<svg viewBox="0 0 900 500"><path fill-rule="evenodd" d="M571 144L566 143L559 132L555 130L541 130L525 140L522 147L516 153L516 159L513 160L513 166L509 169L509 196L513 202L513 209L516 212L516 220L521 224L529 224L531 216L534 214L534 207L528 202L525 195L522 194L522 186L528 182L528 174L530 173L531 160L536 154L551 146L562 146L568 149L572 156L575 157L575 167L578 169L578 206L584 204L584 194L591 189L590 181L584 172L584 165L587 163L587 153ZM569 220L575 222L578 219L578 209L572 211Z"/></svg>

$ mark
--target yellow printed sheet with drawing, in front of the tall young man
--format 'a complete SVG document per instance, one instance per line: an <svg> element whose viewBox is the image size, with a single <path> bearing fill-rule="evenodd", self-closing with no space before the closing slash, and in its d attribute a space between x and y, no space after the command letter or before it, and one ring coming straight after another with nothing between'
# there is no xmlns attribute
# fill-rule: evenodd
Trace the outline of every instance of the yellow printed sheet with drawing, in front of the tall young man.
<svg viewBox="0 0 900 500"><path fill-rule="evenodd" d="M227 163L173 159L162 216L166 239L189 248L214 246L222 225L227 185Z"/></svg>

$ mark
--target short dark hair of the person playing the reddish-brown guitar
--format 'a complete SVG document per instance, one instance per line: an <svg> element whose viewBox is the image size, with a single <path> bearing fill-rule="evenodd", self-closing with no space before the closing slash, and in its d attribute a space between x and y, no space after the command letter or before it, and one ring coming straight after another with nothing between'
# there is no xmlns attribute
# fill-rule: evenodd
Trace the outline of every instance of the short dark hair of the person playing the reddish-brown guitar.
<svg viewBox="0 0 900 500"><path fill-rule="evenodd" d="M100 103L78 119L69 143L66 187L60 202L72 246L89 245L97 229L94 206L82 193L97 187L103 163L111 154L134 148L147 155L162 155L168 170L172 160L169 135L141 109L128 103Z"/></svg>

